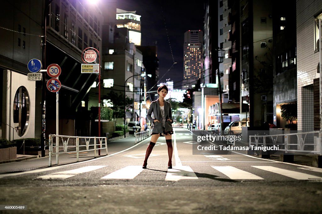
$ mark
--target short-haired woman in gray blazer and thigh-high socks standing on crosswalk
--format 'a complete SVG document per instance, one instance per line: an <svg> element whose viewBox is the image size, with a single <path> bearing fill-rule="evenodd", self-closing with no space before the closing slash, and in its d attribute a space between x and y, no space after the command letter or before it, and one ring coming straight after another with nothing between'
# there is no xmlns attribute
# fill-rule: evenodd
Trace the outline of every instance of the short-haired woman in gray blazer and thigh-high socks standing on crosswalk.
<svg viewBox="0 0 322 214"><path fill-rule="evenodd" d="M150 108L147 112L147 119L153 123L152 127L152 136L149 146L147 147L147 152L145 154L145 159L142 168L147 168L147 159L149 158L151 151L156 145L156 141L160 136L166 137L166 145L168 146L168 168L172 169L172 110L171 104L164 100L166 94L168 93L168 88L165 85L162 85L158 88L157 93L159 98L153 102L151 102ZM152 118L152 113L154 118Z"/></svg>

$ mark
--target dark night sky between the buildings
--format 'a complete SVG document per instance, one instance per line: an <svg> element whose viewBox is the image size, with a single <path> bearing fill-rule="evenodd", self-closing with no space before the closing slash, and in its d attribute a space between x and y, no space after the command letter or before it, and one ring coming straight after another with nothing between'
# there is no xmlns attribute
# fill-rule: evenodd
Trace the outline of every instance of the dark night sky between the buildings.
<svg viewBox="0 0 322 214"><path fill-rule="evenodd" d="M181 88L184 33L187 30L203 30L204 0L118 0L117 4L120 9L137 11L141 15L141 45L157 45L160 78L164 76L161 82L170 78L177 82L175 88ZM170 69L173 62L177 64Z"/></svg>

